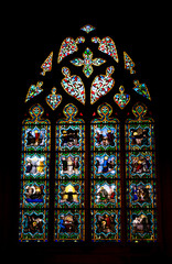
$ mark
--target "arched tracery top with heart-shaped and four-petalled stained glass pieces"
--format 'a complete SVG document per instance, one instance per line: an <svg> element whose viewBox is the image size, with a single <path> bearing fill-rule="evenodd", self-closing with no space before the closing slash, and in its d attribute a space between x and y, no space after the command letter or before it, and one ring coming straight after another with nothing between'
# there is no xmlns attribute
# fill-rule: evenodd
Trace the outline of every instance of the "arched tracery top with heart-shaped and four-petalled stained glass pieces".
<svg viewBox="0 0 172 264"><path fill-rule="evenodd" d="M66 36L57 53L50 51L40 65L36 84L31 84L28 90L25 103L44 95L53 111L61 103L63 107L64 97L68 102L79 102L89 109L93 106L94 109L95 105L110 98L114 108L123 110L136 98L146 99L146 102L151 100L148 86L139 79L130 51L116 46L111 36L97 36L96 28L90 24L83 26L78 35L76 40Z"/></svg>

